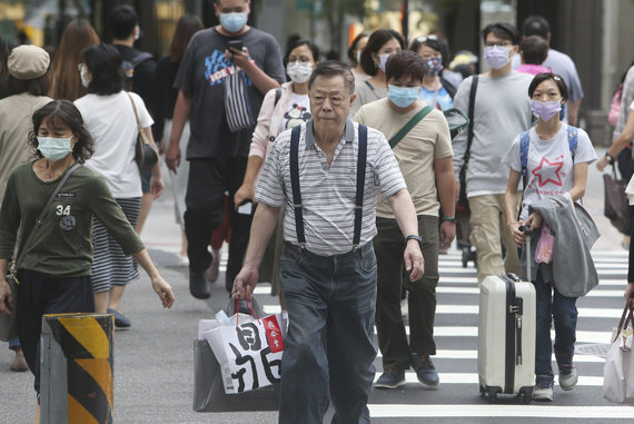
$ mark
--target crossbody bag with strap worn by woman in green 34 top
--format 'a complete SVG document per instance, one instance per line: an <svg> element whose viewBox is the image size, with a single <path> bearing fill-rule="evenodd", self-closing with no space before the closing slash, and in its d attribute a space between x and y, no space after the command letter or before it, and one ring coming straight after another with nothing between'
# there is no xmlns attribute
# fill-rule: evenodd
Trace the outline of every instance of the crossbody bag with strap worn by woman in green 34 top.
<svg viewBox="0 0 634 424"><path fill-rule="evenodd" d="M47 201L47 205L40 213L40 216L36 220L36 225L31 229L31 233L29 234L29 237L27 238L27 241L24 243L22 250L20 252L20 256L18 256L18 259L14 263L11 263L11 265L9 266L7 283L9 284L9 288L11 289L11 297L13 298L13 308L11 310L11 315L0 313L0 341L10 342L13 338L18 337L18 322L16 318L16 309L18 306L18 285L20 284L20 282L18 282L18 276L17 276L18 269L20 268L20 265L22 264L22 260L27 255L27 250L29 249L29 247L31 247L31 244L33 243L33 235L36 230L40 225L42 225L44 217L47 216L49 206L52 204L52 201L57 197L57 194L59 193L59 190L61 190L61 188L66 184L68 177L70 177L70 175L75 172L75 170L80 166L81 166L80 164L75 164L72 167L70 167L69 170L66 171L65 176L62 177L62 179L59 181L56 189L53 190L53 194ZM4 298L4 302L7 302L7 298ZM7 306L9 306L8 303Z"/></svg>

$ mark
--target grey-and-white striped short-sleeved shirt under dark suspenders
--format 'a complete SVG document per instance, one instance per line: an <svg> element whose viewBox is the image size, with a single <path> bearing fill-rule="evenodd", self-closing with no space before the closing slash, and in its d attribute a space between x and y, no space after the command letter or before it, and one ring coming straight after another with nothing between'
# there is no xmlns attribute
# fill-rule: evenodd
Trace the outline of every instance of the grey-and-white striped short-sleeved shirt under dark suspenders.
<svg viewBox="0 0 634 424"><path fill-rule="evenodd" d="M306 248L320 256L353 248L357 178L358 124L346 121L333 162L315 142L313 120L301 125L299 186ZM376 235L376 195L388 198L405 189L405 180L385 136L368 128L367 167L359 246ZM290 185L290 130L280 134L265 162L256 199L274 207L286 205L284 239L298 245Z"/></svg>

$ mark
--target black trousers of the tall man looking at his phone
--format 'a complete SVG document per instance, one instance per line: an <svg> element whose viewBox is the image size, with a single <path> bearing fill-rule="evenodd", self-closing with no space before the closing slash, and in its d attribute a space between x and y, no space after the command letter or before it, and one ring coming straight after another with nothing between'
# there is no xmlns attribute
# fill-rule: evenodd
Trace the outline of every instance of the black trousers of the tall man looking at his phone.
<svg viewBox="0 0 634 424"><path fill-rule="evenodd" d="M185 233L189 244L189 269L202 272L211 264L207 250L211 233L225 219L225 191L229 191L229 226L231 240L225 273L225 287L231 290L240 272L249 243L251 215L238 214L234 207L234 194L242 185L247 169L246 157L217 157L189 161L189 181L185 198Z"/></svg>

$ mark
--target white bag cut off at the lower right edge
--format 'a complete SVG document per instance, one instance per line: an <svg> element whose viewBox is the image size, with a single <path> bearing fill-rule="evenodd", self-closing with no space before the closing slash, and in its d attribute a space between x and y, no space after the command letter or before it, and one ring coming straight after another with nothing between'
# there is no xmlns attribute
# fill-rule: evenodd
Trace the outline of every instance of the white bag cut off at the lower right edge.
<svg viewBox="0 0 634 424"><path fill-rule="evenodd" d="M633 312L628 299L603 368L603 397L613 403L634 402Z"/></svg>

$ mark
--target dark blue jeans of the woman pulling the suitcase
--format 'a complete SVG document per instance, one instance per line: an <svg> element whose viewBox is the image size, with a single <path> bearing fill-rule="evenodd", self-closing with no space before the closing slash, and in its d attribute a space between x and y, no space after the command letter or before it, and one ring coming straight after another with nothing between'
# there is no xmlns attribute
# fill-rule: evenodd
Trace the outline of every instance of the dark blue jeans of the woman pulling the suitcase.
<svg viewBox="0 0 634 424"><path fill-rule="evenodd" d="M551 323L555 322L555 358L562 371L568 373L575 353L577 307L576 297L563 296L551 283L542 282L538 275L535 284L537 296L537 338L535 352L535 377L537 383L553 382L551 357Z"/></svg>

